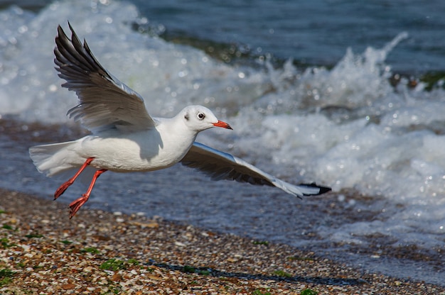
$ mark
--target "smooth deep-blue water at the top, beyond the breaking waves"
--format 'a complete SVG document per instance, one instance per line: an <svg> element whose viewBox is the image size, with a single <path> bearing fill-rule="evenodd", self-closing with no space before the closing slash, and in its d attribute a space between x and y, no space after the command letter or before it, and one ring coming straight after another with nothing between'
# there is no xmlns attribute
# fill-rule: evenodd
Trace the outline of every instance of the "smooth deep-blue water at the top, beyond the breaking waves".
<svg viewBox="0 0 445 295"><path fill-rule="evenodd" d="M254 54L289 57L309 65L335 65L353 48L382 47L407 31L391 52L396 72L419 74L445 68L445 2L417 1L143 1L134 0L151 23L215 42L247 45Z"/></svg>

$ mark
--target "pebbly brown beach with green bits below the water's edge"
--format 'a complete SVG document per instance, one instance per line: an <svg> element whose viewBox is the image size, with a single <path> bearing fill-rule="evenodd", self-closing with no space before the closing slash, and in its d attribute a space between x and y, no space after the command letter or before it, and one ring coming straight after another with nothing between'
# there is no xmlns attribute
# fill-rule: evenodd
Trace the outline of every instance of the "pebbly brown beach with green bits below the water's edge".
<svg viewBox="0 0 445 295"><path fill-rule="evenodd" d="M63 203L0 194L0 294L445 294L289 245L85 208L69 220Z"/></svg>

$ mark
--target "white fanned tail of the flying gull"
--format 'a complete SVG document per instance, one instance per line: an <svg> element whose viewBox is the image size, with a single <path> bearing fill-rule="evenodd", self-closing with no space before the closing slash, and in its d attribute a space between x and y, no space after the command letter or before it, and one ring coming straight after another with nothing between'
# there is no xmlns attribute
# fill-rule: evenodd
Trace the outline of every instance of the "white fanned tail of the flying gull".
<svg viewBox="0 0 445 295"><path fill-rule="evenodd" d="M54 143L51 145L36 145L30 147L29 155L39 172L48 177L65 172L77 167L73 161L69 161L67 151L76 141L66 143Z"/></svg>

